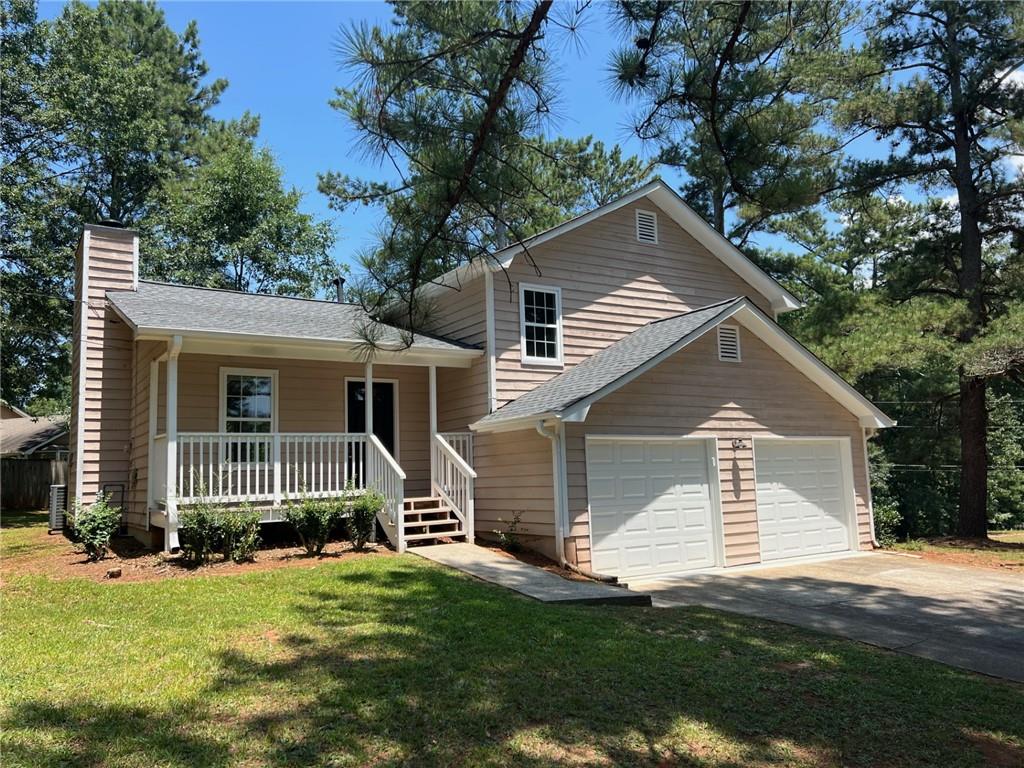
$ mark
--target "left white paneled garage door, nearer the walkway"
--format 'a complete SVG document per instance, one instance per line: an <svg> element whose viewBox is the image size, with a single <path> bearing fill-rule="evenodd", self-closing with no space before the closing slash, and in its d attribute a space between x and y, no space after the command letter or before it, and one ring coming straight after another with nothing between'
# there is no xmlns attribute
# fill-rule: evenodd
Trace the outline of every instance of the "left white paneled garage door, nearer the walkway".
<svg viewBox="0 0 1024 768"><path fill-rule="evenodd" d="M591 556L637 577L716 565L705 440L587 440Z"/></svg>

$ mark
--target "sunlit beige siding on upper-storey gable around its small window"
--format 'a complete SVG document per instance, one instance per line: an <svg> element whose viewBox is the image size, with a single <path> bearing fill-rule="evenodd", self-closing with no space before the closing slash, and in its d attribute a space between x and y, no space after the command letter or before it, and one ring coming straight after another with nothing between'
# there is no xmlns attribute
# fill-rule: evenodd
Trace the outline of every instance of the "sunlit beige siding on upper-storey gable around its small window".
<svg viewBox="0 0 1024 768"><path fill-rule="evenodd" d="M637 208L657 213L657 245L637 242ZM733 296L771 313L768 299L647 201L517 256L508 278L511 287L495 278L499 407L564 370L520 362L519 283L561 289L565 368L650 321Z"/></svg>

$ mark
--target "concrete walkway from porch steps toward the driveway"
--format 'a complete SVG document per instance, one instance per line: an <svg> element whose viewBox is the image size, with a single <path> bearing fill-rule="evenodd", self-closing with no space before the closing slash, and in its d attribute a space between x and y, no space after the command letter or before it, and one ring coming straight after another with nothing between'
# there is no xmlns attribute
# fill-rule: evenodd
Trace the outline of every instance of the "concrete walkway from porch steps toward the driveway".
<svg viewBox="0 0 1024 768"><path fill-rule="evenodd" d="M411 547L411 554L461 570L545 603L650 605L650 595L597 582L570 582L544 568L473 544Z"/></svg>

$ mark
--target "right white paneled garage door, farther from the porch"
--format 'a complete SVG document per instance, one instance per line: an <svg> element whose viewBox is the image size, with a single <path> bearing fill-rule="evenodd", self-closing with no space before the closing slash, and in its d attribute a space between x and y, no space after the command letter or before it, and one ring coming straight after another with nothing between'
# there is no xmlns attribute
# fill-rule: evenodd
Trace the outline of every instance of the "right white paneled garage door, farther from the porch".
<svg viewBox="0 0 1024 768"><path fill-rule="evenodd" d="M850 549L839 440L758 440L754 457L762 560Z"/></svg>

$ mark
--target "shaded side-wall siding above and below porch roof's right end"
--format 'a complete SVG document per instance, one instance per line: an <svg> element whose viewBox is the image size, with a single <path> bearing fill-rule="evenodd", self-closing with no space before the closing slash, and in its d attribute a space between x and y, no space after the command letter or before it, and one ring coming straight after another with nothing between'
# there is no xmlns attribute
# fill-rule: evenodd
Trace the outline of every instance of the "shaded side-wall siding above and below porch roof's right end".
<svg viewBox="0 0 1024 768"><path fill-rule="evenodd" d="M431 333L466 344L486 347L485 281L474 278L462 288L450 289L433 303ZM465 431L487 414L487 357L471 368L437 369L437 429Z"/></svg>

